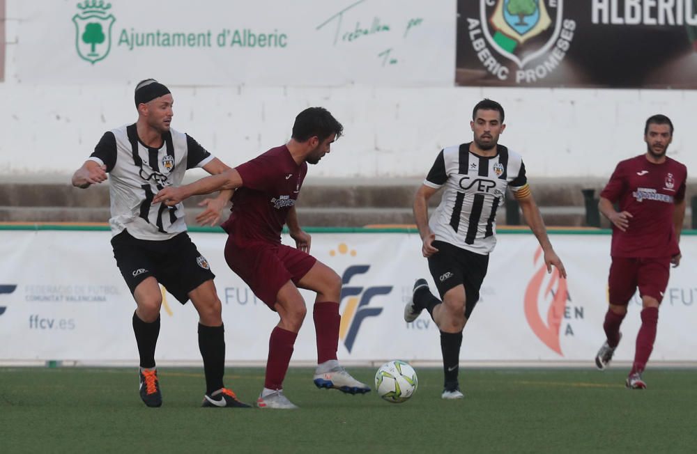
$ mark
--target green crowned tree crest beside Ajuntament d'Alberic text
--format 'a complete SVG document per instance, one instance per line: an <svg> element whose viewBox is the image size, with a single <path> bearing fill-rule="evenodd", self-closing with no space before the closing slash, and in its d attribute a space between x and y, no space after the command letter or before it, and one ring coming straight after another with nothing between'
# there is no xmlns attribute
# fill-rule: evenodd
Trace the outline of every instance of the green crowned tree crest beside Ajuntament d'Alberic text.
<svg viewBox="0 0 697 454"><path fill-rule="evenodd" d="M92 64L103 60L112 49L112 26L116 22L109 13L112 3L104 0L84 0L77 3L79 13L72 16L75 24L77 55Z"/></svg>

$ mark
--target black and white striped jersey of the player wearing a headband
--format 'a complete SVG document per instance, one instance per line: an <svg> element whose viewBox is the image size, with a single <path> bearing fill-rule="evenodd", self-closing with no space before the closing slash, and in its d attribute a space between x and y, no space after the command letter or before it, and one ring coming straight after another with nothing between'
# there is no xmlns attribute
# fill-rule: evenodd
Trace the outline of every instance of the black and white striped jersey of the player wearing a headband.
<svg viewBox="0 0 697 454"><path fill-rule="evenodd" d="M151 148L138 139L136 125L105 132L90 158L107 166L112 235L128 228L140 240L168 240L186 231L184 206L152 205L165 186L178 186L187 169L203 167L213 159L188 134L170 130L162 147Z"/></svg>

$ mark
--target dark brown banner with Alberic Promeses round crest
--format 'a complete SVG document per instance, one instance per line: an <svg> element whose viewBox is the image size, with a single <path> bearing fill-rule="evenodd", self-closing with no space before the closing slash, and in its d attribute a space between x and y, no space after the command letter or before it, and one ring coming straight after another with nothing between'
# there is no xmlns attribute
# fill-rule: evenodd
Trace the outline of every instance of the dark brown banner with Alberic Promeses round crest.
<svg viewBox="0 0 697 454"><path fill-rule="evenodd" d="M697 0L458 0L457 85L697 88Z"/></svg>

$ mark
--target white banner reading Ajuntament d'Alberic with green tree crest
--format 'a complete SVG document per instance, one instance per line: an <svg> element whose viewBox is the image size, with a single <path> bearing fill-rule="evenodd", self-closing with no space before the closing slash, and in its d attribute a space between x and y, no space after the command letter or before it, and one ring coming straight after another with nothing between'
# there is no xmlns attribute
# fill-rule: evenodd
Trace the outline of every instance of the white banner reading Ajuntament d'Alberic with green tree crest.
<svg viewBox="0 0 697 454"><path fill-rule="evenodd" d="M19 3L19 2L18 2ZM455 0L17 5L17 78L197 86L452 86Z"/></svg>

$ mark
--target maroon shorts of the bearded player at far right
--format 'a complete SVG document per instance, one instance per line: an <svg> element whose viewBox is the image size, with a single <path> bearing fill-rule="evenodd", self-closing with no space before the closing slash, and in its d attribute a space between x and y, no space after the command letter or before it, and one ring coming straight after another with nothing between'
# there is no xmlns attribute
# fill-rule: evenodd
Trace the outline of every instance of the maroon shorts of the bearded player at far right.
<svg viewBox="0 0 697 454"><path fill-rule="evenodd" d="M608 278L610 304L627 306L637 287L641 297L652 297L660 303L670 274L670 257L613 257Z"/></svg>

